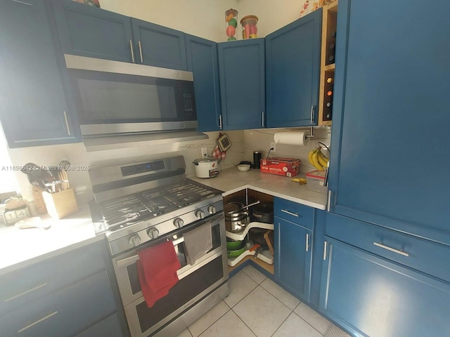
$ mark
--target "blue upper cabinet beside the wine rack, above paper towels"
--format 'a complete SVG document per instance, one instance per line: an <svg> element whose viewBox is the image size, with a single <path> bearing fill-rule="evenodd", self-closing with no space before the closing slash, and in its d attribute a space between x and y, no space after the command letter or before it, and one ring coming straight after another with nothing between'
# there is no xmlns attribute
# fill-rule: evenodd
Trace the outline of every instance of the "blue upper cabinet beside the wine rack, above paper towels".
<svg viewBox="0 0 450 337"><path fill-rule="evenodd" d="M317 125L322 8L266 37L267 127Z"/></svg>

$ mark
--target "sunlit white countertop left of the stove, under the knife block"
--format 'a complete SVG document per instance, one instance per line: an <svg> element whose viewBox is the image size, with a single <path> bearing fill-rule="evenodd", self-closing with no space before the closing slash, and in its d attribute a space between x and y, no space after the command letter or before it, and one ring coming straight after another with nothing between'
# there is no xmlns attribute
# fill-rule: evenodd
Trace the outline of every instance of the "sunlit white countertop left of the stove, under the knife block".
<svg viewBox="0 0 450 337"><path fill-rule="evenodd" d="M60 220L41 218L51 224L48 230L0 225L0 275L103 239L96 237L87 205Z"/></svg>

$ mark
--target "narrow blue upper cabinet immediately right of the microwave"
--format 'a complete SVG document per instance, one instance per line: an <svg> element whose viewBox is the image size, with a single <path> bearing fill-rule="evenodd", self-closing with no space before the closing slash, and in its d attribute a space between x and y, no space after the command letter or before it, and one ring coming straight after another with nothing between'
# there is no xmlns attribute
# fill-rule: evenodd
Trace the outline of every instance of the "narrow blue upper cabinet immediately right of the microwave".
<svg viewBox="0 0 450 337"><path fill-rule="evenodd" d="M188 71L194 75L198 130L219 130L220 88L217 43L186 34Z"/></svg>

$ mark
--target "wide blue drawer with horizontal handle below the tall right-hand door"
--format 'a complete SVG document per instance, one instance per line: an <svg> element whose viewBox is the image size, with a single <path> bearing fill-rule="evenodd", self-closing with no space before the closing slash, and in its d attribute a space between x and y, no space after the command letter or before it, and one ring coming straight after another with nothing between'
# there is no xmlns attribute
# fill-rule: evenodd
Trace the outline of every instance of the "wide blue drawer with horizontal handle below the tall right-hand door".
<svg viewBox="0 0 450 337"><path fill-rule="evenodd" d="M326 235L450 282L450 247L327 213Z"/></svg>

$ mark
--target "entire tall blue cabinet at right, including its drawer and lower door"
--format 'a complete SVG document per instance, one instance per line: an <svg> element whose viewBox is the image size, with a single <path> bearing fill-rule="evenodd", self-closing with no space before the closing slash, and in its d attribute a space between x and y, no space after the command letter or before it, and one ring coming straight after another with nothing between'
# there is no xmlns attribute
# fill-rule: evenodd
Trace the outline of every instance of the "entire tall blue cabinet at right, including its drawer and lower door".
<svg viewBox="0 0 450 337"><path fill-rule="evenodd" d="M339 1L320 310L354 336L450 335L448 14Z"/></svg>

